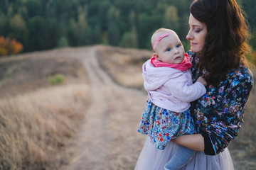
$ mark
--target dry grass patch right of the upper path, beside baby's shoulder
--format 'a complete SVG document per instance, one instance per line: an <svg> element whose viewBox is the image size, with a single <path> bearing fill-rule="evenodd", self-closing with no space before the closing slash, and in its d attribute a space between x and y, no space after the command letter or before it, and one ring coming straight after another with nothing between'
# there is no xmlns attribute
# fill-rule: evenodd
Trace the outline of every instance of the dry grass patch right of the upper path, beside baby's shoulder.
<svg viewBox="0 0 256 170"><path fill-rule="evenodd" d="M143 89L142 64L151 55L149 50L107 47L98 51L97 56L100 66L117 84Z"/></svg>

